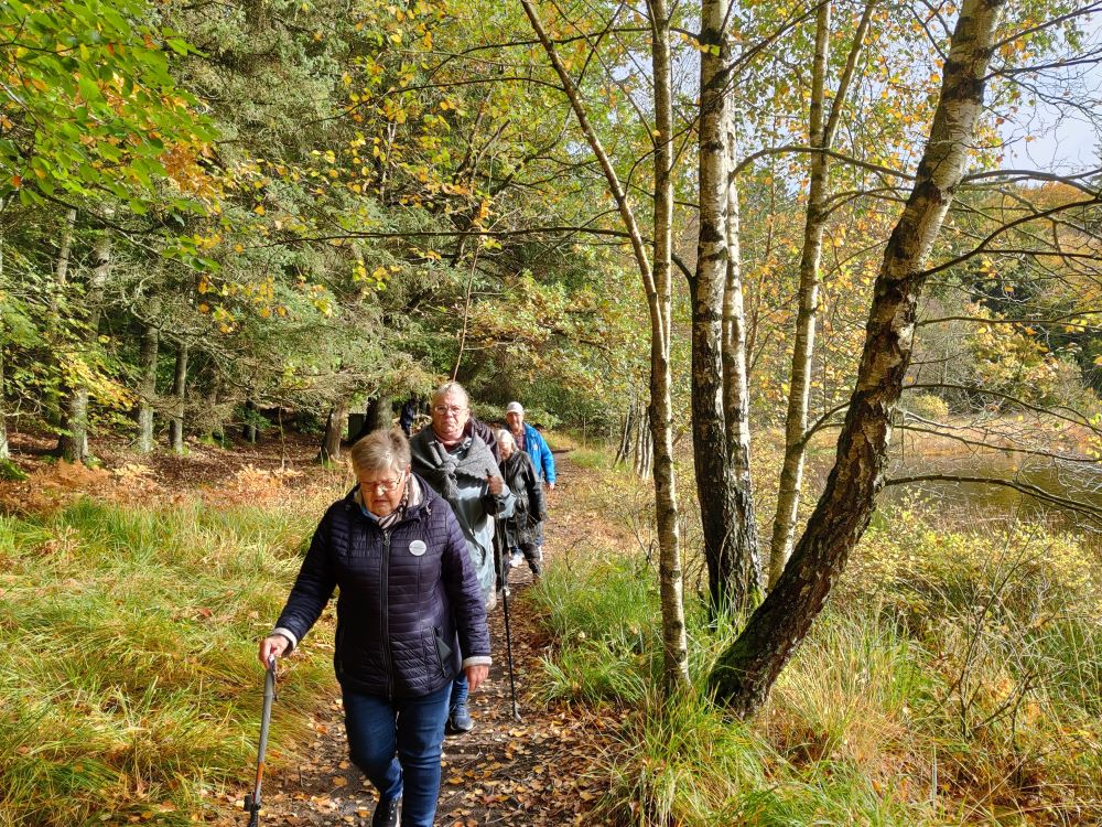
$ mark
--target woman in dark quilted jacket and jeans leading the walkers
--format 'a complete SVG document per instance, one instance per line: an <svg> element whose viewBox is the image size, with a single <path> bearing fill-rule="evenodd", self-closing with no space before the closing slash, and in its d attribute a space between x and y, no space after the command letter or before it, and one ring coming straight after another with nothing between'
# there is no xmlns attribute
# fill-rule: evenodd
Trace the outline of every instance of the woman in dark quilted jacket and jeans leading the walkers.
<svg viewBox="0 0 1102 827"><path fill-rule="evenodd" d="M372 827L431 827L452 681L489 672L483 590L451 506L411 471L398 430L352 449L358 484L329 506L260 662L293 649L341 588L333 665Z"/></svg>

